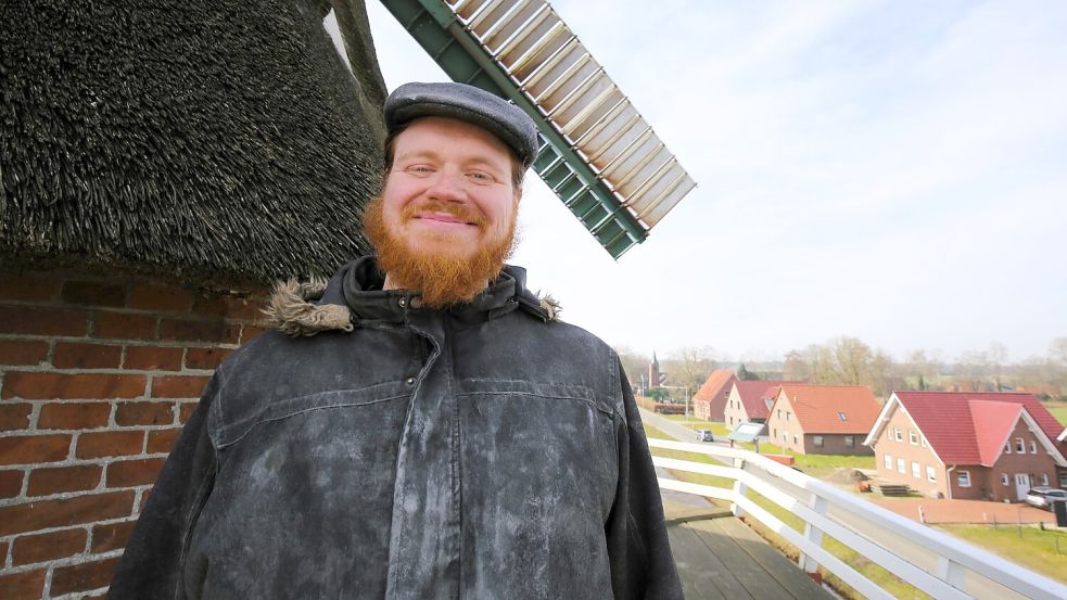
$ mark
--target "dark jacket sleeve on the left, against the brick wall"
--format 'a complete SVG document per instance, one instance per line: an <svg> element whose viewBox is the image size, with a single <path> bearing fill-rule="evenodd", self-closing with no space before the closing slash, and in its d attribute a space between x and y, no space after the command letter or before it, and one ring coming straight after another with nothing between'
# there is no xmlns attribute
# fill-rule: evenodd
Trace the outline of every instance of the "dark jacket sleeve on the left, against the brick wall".
<svg viewBox="0 0 1067 600"><path fill-rule="evenodd" d="M217 467L207 414L218 388L216 373L186 422L152 488L107 591L111 600L186 600L182 552L189 531L211 493Z"/></svg>

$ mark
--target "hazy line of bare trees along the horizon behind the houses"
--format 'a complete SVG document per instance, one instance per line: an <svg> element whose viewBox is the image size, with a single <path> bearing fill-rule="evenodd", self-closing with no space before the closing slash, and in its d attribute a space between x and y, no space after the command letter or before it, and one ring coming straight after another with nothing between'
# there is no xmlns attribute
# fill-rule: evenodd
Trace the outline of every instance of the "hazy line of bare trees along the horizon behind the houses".
<svg viewBox="0 0 1067 600"><path fill-rule="evenodd" d="M647 378L651 357L624 346L615 352L631 383ZM917 349L897 360L862 340L841 336L786 353L783 360L738 363L727 361L710 346L687 346L660 359L668 385L696 393L717 368L734 369L746 378L803 381L817 384L867 385L886 398L893 390L995 392L1021 390L1042 399L1067 399L1067 337L1057 337L1043 356L1008 362L1000 343L964 352L952 359L938 350Z"/></svg>

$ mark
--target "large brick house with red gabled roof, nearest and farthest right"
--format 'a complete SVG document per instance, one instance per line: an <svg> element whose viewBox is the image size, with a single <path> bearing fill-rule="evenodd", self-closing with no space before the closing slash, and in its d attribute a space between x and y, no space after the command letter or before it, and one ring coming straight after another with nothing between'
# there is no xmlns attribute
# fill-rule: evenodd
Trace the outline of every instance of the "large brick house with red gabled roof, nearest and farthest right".
<svg viewBox="0 0 1067 600"><path fill-rule="evenodd" d="M1067 485L1063 425L1018 392L893 392L864 445L878 474L931 497L1017 501Z"/></svg>

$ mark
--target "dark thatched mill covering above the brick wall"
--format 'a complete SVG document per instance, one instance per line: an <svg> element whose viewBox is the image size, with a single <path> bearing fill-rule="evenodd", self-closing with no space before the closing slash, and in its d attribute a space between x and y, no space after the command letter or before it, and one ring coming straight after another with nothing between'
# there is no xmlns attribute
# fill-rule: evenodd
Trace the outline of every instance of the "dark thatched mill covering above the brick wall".
<svg viewBox="0 0 1067 600"><path fill-rule="evenodd" d="M0 260L250 282L361 254L385 90L363 0L4 2Z"/></svg>

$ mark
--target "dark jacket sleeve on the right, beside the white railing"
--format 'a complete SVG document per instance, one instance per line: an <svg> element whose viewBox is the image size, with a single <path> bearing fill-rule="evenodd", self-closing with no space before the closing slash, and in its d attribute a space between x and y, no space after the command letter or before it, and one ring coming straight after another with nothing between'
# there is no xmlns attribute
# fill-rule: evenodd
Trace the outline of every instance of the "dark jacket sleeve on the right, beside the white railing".
<svg viewBox="0 0 1067 600"><path fill-rule="evenodd" d="M617 600L684 598L663 521L656 469L630 382L619 373L624 422L617 424L619 483L607 523L611 585Z"/></svg>

